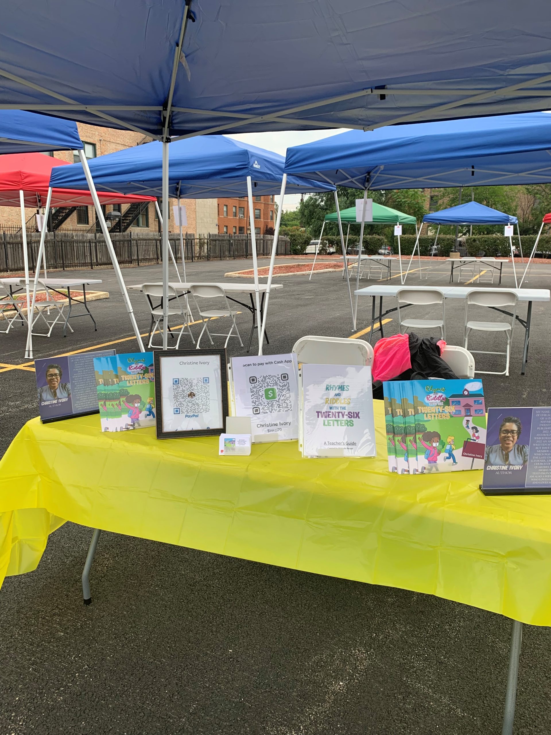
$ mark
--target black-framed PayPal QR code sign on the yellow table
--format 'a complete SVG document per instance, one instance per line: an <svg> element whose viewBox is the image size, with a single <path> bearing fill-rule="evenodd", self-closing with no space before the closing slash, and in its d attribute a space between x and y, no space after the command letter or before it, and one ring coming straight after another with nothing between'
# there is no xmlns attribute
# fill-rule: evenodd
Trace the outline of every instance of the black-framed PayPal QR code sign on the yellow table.
<svg viewBox="0 0 551 735"><path fill-rule="evenodd" d="M155 352L157 439L219 436L226 431L226 350Z"/></svg>

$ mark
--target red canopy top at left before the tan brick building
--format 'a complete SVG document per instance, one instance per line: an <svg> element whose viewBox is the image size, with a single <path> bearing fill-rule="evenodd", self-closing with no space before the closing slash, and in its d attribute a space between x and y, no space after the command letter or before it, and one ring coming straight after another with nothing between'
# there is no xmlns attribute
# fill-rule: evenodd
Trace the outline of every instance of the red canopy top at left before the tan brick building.
<svg viewBox="0 0 551 735"><path fill-rule="evenodd" d="M19 207L20 192L24 193L25 207L41 206L48 196L51 169L68 166L67 161L43 153L16 153L0 156L0 206ZM37 196L40 200L37 200ZM135 201L156 201L154 196L117 194L98 191L101 204L132 204ZM93 205L89 190L52 189L51 207L80 207Z"/></svg>

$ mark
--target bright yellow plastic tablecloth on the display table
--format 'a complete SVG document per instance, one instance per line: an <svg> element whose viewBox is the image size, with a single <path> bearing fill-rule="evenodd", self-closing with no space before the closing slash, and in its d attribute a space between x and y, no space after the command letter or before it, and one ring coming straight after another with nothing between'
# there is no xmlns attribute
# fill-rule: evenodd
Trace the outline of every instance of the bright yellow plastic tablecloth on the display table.
<svg viewBox="0 0 551 735"><path fill-rule="evenodd" d="M486 498L480 471L389 473L303 459L297 442L218 456L218 437L99 431L97 415L21 429L0 462L0 581L35 569L63 519L551 625L551 497Z"/></svg>

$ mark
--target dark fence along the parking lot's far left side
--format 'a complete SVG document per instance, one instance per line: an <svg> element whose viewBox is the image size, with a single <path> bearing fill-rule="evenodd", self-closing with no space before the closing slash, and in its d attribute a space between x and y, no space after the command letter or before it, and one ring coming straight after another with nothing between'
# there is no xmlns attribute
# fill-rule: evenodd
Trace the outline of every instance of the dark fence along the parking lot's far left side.
<svg viewBox="0 0 551 735"><path fill-rule="evenodd" d="M0 273L19 272L24 269L23 240L21 232L0 234ZM35 270L40 233L28 233L27 253L29 269ZM120 265L152 265L161 262L161 237L156 232L112 234L115 254ZM178 234L170 234L176 262L181 262L181 243ZM257 235L256 252L269 256L272 252L273 236ZM94 233L48 232L46 234L46 267L53 270L71 268L109 268L111 258L104 236ZM289 255L288 237L278 238L278 255ZM252 258L251 235L211 234L206 237L184 236L186 262L207 260L229 260Z"/></svg>

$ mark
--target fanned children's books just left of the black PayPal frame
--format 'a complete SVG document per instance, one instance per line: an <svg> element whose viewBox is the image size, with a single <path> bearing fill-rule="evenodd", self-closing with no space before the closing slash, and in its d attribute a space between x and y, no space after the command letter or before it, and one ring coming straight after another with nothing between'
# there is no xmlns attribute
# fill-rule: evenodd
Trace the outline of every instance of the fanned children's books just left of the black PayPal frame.
<svg viewBox="0 0 551 735"><path fill-rule="evenodd" d="M101 431L155 426L152 352L131 352L94 359Z"/></svg>

